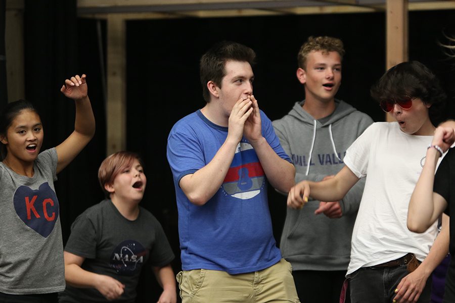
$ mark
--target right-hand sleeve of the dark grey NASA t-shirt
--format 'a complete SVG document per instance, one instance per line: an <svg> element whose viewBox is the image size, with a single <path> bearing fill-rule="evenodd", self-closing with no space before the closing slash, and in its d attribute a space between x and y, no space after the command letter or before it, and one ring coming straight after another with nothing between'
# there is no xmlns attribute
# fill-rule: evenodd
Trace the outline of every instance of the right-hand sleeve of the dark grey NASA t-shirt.
<svg viewBox="0 0 455 303"><path fill-rule="evenodd" d="M155 243L150 250L149 260L151 266L162 267L171 263L175 256L161 224L155 217L153 217L153 225L155 226Z"/></svg>

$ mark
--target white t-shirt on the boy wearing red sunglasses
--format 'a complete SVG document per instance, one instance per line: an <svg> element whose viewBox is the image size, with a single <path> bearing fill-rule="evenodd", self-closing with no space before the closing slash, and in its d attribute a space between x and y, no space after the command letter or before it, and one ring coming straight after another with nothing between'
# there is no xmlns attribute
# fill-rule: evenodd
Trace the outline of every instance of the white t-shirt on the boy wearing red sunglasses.
<svg viewBox="0 0 455 303"><path fill-rule="evenodd" d="M425 164L432 136L400 130L398 123L372 124L346 151L344 163L365 177L352 233L347 274L361 267L398 259L408 252L423 261L437 234L437 223L424 233L407 229L409 200Z"/></svg>

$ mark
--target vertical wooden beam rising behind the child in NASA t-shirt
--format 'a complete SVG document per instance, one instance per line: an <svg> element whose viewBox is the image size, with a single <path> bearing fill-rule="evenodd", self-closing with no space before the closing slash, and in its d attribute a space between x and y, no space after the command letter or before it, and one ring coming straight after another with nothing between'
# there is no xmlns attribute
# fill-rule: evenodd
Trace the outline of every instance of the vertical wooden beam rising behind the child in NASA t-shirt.
<svg viewBox="0 0 455 303"><path fill-rule="evenodd" d="M106 153L126 148L126 24L116 14L107 18Z"/></svg>

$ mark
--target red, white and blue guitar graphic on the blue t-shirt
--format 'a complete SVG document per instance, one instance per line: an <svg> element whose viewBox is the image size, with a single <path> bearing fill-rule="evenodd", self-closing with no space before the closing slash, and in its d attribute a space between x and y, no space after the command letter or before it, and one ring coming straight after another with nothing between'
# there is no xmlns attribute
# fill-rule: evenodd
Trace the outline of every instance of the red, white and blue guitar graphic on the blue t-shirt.
<svg viewBox="0 0 455 303"><path fill-rule="evenodd" d="M261 192L264 176L264 170L253 146L247 142L240 142L231 167L224 178L222 189L235 198L251 199Z"/></svg>

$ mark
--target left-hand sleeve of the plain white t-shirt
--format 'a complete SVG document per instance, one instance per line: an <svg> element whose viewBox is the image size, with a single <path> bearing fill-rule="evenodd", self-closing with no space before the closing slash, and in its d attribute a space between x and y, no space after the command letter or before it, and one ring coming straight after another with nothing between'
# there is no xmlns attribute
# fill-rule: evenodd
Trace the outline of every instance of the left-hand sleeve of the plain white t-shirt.
<svg viewBox="0 0 455 303"><path fill-rule="evenodd" d="M343 161L357 178L367 175L372 138L378 135L376 128L375 123L369 126L346 150Z"/></svg>

